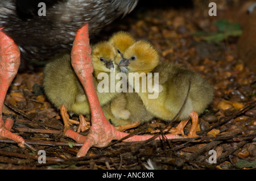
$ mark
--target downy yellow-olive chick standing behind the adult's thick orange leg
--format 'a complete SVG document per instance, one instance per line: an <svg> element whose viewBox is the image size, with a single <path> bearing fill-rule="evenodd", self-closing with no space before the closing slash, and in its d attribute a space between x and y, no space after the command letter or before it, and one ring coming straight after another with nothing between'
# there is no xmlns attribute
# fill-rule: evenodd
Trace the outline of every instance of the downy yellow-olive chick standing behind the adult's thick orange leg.
<svg viewBox="0 0 256 181"><path fill-rule="evenodd" d="M70 58L70 52L66 52L56 56L54 58L55 60L46 65L44 70L43 87L47 98L55 107L60 109L65 129L68 129L69 124L72 123L68 118L67 111L79 114L80 126L78 131L80 132L80 130L84 131L85 129L88 129L82 115L88 115L90 113L90 107L85 91L72 68ZM97 79L97 77L100 73L105 73L108 75L108 82L110 82L110 78L112 78L110 76L110 72L113 71L116 66L116 64L113 64L113 61L115 61L115 59L119 61L120 58L121 56L116 52L113 45L107 41L93 46L93 82L96 87L97 96L101 106L109 103L110 100L118 94L118 92L99 92L97 87L98 83L102 80ZM115 71L115 73L117 73L117 71ZM108 90L110 90L110 85L111 84L109 83L104 86L109 86Z"/></svg>

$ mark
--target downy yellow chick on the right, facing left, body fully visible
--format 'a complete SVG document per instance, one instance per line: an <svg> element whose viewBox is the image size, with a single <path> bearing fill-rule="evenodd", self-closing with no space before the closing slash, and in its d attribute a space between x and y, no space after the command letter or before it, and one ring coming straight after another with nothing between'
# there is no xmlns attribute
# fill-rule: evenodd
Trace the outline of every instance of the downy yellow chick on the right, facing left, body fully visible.
<svg viewBox="0 0 256 181"><path fill-rule="evenodd" d="M182 121L176 127L175 134L184 135L183 128L190 116L192 127L188 137L196 137L198 114L202 113L208 104L212 102L213 87L195 71L171 64L170 62L160 62L158 52L146 41L137 41L131 45L123 53L123 57L124 59L120 61L119 66L126 67L127 71L132 73L142 73L142 78L137 79L137 83L139 83L137 94L142 99L147 111L166 121L174 119L182 107L191 77L191 89L188 93L187 102L176 118L176 120ZM153 88L147 85L147 91L143 92L141 91L143 88L142 80L143 77L148 78L150 75L148 73L152 73L152 78L150 79L152 82L159 82L156 82L156 85L153 83L155 85ZM158 75L155 73L158 73ZM157 76L159 76L159 79ZM130 81L130 79L129 84L133 87L135 86L135 83ZM155 99L149 98L149 95L152 95L150 93L152 91L158 93Z"/></svg>

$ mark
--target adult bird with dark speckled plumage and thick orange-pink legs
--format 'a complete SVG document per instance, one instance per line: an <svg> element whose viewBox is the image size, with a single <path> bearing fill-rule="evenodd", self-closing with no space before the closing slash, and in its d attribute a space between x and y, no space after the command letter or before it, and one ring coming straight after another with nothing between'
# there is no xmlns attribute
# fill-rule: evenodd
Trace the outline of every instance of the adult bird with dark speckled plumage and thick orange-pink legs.
<svg viewBox="0 0 256 181"><path fill-rule="evenodd" d="M39 2L45 3L46 16L39 16ZM101 124L102 121L106 123L92 81L89 34L92 36L118 16L131 12L137 2L138 0L1 0L0 136L24 146L24 139L10 132L13 120L7 119L5 123L2 119L3 102L18 72L20 54L22 59L44 60L67 48L72 48L71 64L88 95L92 124ZM102 129L104 128L96 128L95 132L104 132ZM93 141L88 140L88 149L101 142L93 138L93 133Z"/></svg>

